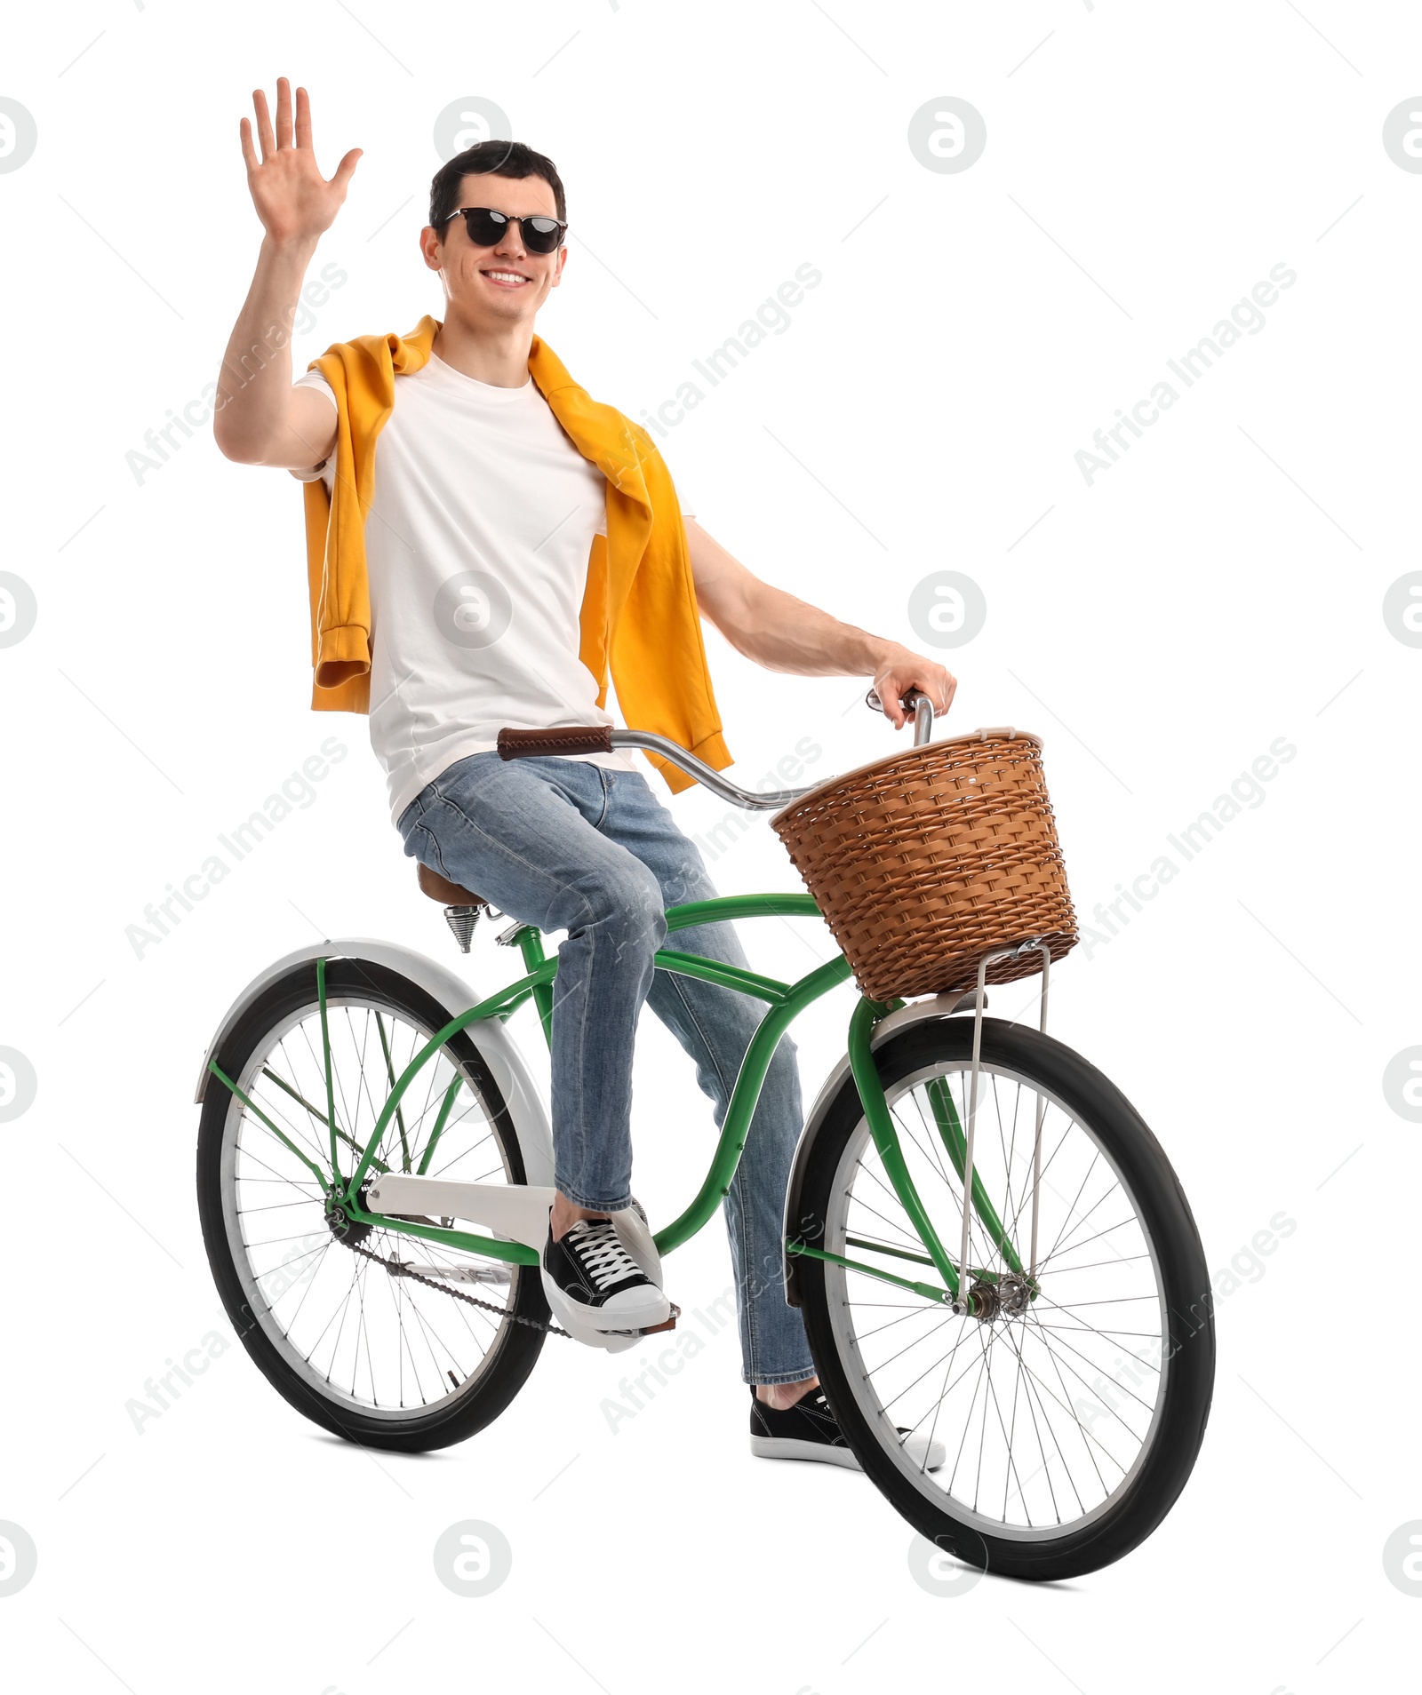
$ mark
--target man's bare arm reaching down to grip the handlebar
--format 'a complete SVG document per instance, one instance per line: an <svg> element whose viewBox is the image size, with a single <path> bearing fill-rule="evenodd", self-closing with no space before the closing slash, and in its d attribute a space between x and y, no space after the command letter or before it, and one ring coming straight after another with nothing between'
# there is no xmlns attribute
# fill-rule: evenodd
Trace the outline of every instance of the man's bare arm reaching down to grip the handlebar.
<svg viewBox="0 0 1422 1695"><path fill-rule="evenodd" d="M895 729L907 722L898 698L910 688L922 690L936 714L953 705L958 680L936 659L925 659L902 642L869 636L853 624L841 624L783 588L771 588L695 519L686 524L686 541L702 614L747 659L768 671L793 671L798 676L871 676Z"/></svg>

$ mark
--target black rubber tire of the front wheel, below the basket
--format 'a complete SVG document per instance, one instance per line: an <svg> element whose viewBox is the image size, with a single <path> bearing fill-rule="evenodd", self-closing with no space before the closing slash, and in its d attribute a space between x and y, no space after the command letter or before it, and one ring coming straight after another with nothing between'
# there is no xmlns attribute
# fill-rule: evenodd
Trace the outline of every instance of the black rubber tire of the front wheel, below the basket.
<svg viewBox="0 0 1422 1695"><path fill-rule="evenodd" d="M922 1076L925 1068L961 1071L971 1058L971 1039L973 1020L964 1017L912 1025L892 1036L875 1053L885 1092L892 1097L895 1083ZM1142 1449L1139 1470L1122 1478L1119 1498L1105 1495L1097 1517L1083 1514L1080 1526L1063 1526L1061 1536L1053 1536L1051 1527L1046 1532L1034 1529L1030 1539L1024 1539L1027 1532L985 1531L981 1519L975 1522L954 1495L937 1483L927 1487L929 1473L915 1473L922 1481L907 1475L908 1468L888 1451L885 1441L885 1431L893 1429L888 1415L871 1417L856 1397L853 1375L859 1378L859 1395L869 1392L863 1388L866 1373L858 1358L858 1341L846 1348L846 1327L854 1320L846 1317L849 1302L844 1290L849 1285L844 1273L825 1261L798 1256L795 1276L825 1395L861 1466L897 1512L930 1542L968 1564L1014 1578L1071 1578L1130 1553L1161 1524L1190 1476L1214 1388L1210 1280L1190 1205L1164 1151L1125 1097L1095 1066L1061 1042L1000 1019L983 1020L981 1056L985 1066L1000 1066L1036 1081L1081 1125L1090 1127L1091 1141L1115 1168L1154 1256L1161 1327L1168 1331L1161 1346L1166 1366L1159 1373L1149 1446ZM834 1215L832 1192L836 1181L844 1181L841 1161L847 1158L851 1137L859 1146L861 1125L859 1093L853 1078L846 1078L820 1124L800 1192L798 1234L810 1246L824 1246L825 1220ZM847 1195L847 1190L839 1193ZM847 1200L839 1200L841 1215L847 1205ZM956 1261L958 1241L946 1246ZM898 1270L905 1268L900 1264ZM937 1281L934 1273L924 1275ZM868 1278L859 1278L859 1285L866 1283ZM839 1307L839 1327L832 1302ZM978 1320L953 1322L975 1325Z"/></svg>

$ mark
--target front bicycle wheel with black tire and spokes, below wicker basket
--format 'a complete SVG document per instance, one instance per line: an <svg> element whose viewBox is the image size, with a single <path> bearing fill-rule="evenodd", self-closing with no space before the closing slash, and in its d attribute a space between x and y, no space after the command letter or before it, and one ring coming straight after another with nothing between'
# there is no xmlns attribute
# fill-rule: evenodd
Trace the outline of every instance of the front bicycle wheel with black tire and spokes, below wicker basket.
<svg viewBox="0 0 1422 1695"><path fill-rule="evenodd" d="M971 1041L971 1019L944 1019L875 1049L954 1263ZM975 1173L980 1317L797 1256L805 1327L846 1439L922 1536L1005 1576L1069 1578L1144 1541L1195 1464L1215 1364L1205 1258L1169 1161L1120 1092L1069 1048L1000 1019L983 1020ZM983 1222L983 1200L1002 1229ZM817 1134L798 1225L812 1248L939 1283L853 1078Z"/></svg>

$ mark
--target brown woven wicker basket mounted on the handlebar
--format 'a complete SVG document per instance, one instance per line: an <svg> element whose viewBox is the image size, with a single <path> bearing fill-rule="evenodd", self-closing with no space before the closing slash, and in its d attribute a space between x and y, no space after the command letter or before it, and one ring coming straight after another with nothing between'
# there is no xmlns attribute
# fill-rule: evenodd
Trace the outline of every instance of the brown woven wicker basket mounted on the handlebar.
<svg viewBox="0 0 1422 1695"><path fill-rule="evenodd" d="M771 824L875 1000L971 988L986 953L1041 937L1059 959L1076 914L1041 737L990 729L861 764ZM998 959L990 983L1042 968Z"/></svg>

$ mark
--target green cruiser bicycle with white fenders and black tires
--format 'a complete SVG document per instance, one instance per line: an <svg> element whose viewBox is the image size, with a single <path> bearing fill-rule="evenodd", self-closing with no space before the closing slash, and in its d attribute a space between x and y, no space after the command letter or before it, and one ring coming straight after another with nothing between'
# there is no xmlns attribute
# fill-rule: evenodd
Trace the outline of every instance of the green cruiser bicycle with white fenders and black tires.
<svg viewBox="0 0 1422 1695"><path fill-rule="evenodd" d="M903 707L925 747L929 702ZM505 758L593 747L654 751L749 810L824 788L753 793L644 731L500 736ZM486 903L419 873L468 953ZM822 909L725 895L666 920L771 915ZM198 1209L224 1307L290 1405L364 1446L473 1436L561 1334L539 1275L551 1134L505 1029L532 1002L551 1041L558 959L527 924L498 941L524 975L483 997L405 948L303 948L237 997L203 1058ZM1010 937L981 949L966 992L859 993L785 1205L786 1298L864 1473L939 1548L1036 1580L1097 1570L1159 1526L1203 1439L1215 1356L1185 1193L1124 1095L1046 1034L1051 959L1049 939ZM851 963L841 951L795 983L673 946L656 964L768 1007L700 1190L654 1232L668 1254L717 1212L781 1034ZM990 970L1029 968L1039 1027L986 1017ZM617 1351L639 1334L581 1339ZM939 1470L908 1458L903 1429L937 1437Z"/></svg>

